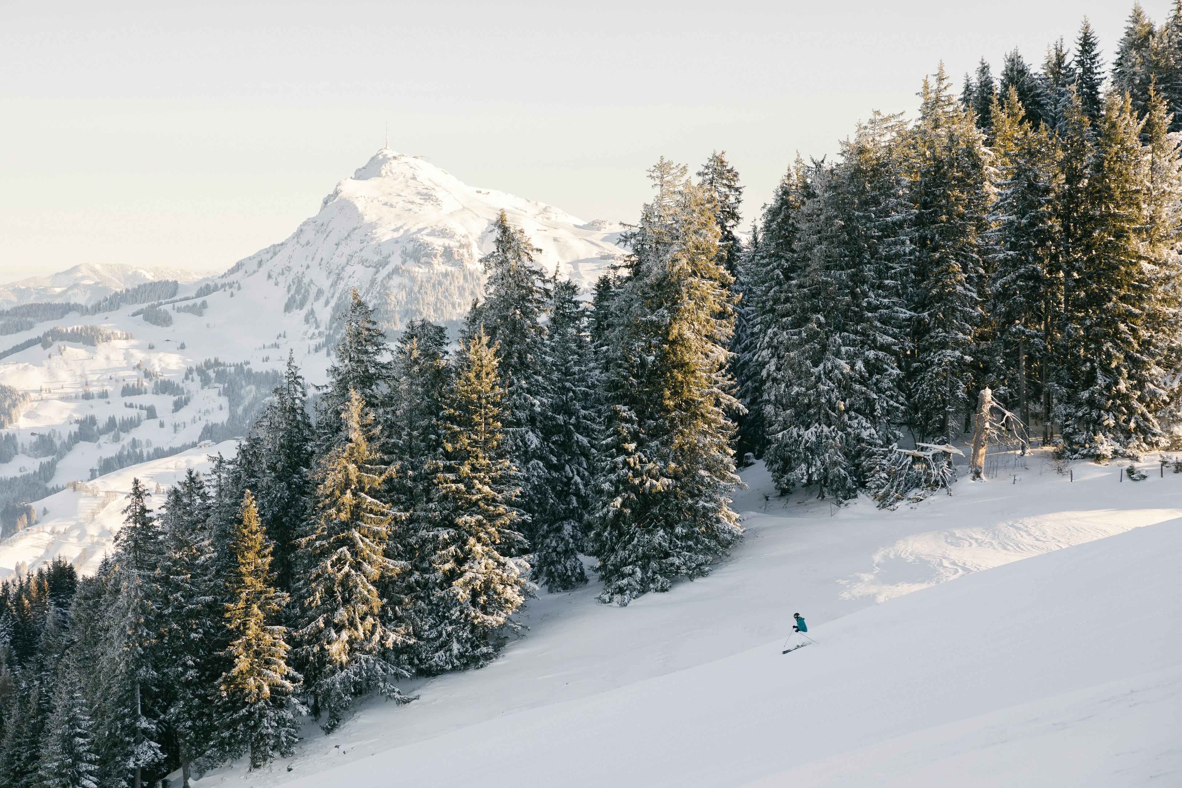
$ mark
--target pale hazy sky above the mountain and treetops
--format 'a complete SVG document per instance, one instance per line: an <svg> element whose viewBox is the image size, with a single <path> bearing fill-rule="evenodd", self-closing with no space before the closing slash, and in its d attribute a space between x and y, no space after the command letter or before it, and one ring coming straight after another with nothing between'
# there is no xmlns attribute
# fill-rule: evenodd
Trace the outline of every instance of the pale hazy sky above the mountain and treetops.
<svg viewBox="0 0 1182 788"><path fill-rule="evenodd" d="M1144 0L1155 21L1171 0ZM726 150L747 221L795 151L914 112L943 60L1131 0L7 2L0 282L79 262L225 271L290 235L382 146L584 220L630 221L658 156Z"/></svg>

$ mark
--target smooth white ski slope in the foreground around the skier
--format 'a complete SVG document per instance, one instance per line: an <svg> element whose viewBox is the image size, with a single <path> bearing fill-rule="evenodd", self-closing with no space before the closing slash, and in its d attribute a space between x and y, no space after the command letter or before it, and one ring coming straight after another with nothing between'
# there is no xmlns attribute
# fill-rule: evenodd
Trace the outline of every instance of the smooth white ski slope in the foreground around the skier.
<svg viewBox="0 0 1182 788"><path fill-rule="evenodd" d="M1024 462L897 512L756 464L710 577L541 593L487 667L195 784L1182 784L1182 474ZM794 612L817 644L782 655Z"/></svg>

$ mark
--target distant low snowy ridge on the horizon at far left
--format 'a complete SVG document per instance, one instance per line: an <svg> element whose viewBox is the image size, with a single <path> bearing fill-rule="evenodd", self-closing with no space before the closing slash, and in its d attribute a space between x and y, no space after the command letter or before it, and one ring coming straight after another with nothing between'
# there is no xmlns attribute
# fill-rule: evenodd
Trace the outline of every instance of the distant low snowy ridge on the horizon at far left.
<svg viewBox="0 0 1182 788"><path fill-rule="evenodd" d="M0 310L32 301L90 305L104 295L144 282L173 279L189 284L206 275L167 266L143 268L111 262L84 262L48 276L30 276L0 285Z"/></svg>

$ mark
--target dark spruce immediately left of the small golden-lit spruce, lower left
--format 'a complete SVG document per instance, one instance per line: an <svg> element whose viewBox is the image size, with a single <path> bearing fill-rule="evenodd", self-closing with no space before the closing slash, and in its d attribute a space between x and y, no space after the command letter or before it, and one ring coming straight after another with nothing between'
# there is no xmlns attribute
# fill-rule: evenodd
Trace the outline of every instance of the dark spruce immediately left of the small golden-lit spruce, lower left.
<svg viewBox="0 0 1182 788"><path fill-rule="evenodd" d="M217 620L221 587L207 517L209 494L189 469L169 489L163 514L163 549L156 584L162 592L157 616L158 672L163 721L181 762L187 788L193 763L209 754L220 723L214 709L217 651L223 642Z"/></svg>

